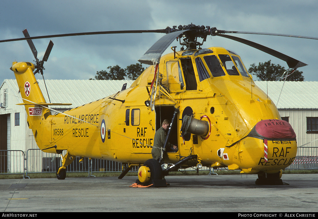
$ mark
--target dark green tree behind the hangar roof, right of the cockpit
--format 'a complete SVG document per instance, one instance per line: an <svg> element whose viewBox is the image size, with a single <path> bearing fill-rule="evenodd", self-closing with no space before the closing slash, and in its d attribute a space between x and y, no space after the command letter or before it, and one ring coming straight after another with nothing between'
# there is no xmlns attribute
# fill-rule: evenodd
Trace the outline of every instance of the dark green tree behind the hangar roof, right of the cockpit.
<svg viewBox="0 0 318 219"><path fill-rule="evenodd" d="M259 81L284 81L284 77L286 76L286 73L284 74L286 69L280 65L271 63L271 60L259 63L258 66L253 63L248 71L252 75L255 75ZM288 74L290 73L291 71L288 72ZM286 81L304 81L304 77L301 71L295 70L293 74L286 78Z"/></svg>

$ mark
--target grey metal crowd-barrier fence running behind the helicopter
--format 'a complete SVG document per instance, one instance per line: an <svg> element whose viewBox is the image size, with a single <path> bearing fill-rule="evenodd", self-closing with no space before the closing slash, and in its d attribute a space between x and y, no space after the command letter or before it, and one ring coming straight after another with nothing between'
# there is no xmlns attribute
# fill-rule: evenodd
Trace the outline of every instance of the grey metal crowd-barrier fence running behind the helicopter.
<svg viewBox="0 0 318 219"><path fill-rule="evenodd" d="M64 154L62 154L64 155ZM66 168L66 172L88 172L93 176L96 172L121 172L122 163L84 158L79 163L80 158L76 157L73 163ZM59 166L62 166L61 157L58 154L42 152L40 149L29 149L24 153L20 150L0 150L0 174L23 174L28 177L28 173L56 173ZM318 147L298 148L294 162L286 169L312 170L318 169ZM196 170L195 168L188 168ZM200 170L210 170L203 167ZM131 172L137 172L138 166L134 166ZM212 169L213 172L213 169Z"/></svg>

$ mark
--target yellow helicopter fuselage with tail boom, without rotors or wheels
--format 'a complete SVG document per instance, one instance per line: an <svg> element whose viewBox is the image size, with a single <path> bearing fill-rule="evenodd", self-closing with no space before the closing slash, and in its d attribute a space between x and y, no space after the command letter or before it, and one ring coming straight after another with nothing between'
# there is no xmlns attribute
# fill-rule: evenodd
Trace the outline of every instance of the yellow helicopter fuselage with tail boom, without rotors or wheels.
<svg viewBox="0 0 318 219"><path fill-rule="evenodd" d="M37 89L35 79L29 79L33 70L14 71L20 87L30 82L30 96ZM27 93L21 95L29 100ZM30 115L29 108L42 108L45 102L38 97L30 101L38 104L25 105L29 128L44 152L67 150L72 156L141 165L152 158L155 132L164 119L172 119L175 109L170 142L178 151L167 149L164 163L196 154L197 160L183 166L201 163L244 173L277 173L294 161L297 151L290 125L255 85L240 57L220 47L162 56L156 74L155 66L150 66L130 88L63 113L53 115L43 108L41 115ZM184 116L204 121L208 131L201 136L183 134ZM290 133L256 136L251 133L257 124L269 130L288 126Z"/></svg>

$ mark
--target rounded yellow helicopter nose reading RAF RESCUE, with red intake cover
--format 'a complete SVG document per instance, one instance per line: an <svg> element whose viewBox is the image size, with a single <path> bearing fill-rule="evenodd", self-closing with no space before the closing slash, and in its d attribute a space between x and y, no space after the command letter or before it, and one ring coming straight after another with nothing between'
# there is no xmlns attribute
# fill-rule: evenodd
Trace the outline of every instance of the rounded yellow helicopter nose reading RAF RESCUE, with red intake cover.
<svg viewBox="0 0 318 219"><path fill-rule="evenodd" d="M259 121L245 138L251 148L250 166L254 171L278 172L293 163L297 153L296 134L292 126L280 119ZM252 146L254 145L254 146ZM244 151L244 150L243 150ZM240 153L245 161L246 154Z"/></svg>

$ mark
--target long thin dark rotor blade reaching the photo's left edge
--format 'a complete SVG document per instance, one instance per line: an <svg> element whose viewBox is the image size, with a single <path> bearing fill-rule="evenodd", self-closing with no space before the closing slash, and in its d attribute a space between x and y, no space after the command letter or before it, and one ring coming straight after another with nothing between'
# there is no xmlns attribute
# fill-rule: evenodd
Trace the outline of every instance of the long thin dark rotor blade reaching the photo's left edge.
<svg viewBox="0 0 318 219"><path fill-rule="evenodd" d="M19 40L29 40L29 39L44 39L44 38L69 37L69 36L81 36L81 35L115 34L115 33L166 33L166 31L167 31L166 29L161 29L161 30L130 30L130 31L100 31L100 32L66 33L66 34L46 35L46 36L38 36L38 37L29 36L25 38L3 39L3 40L0 40L0 43L19 41Z"/></svg>

